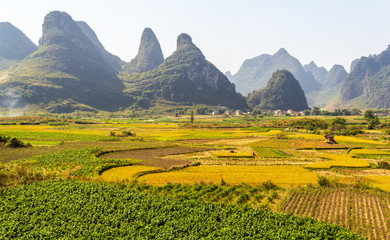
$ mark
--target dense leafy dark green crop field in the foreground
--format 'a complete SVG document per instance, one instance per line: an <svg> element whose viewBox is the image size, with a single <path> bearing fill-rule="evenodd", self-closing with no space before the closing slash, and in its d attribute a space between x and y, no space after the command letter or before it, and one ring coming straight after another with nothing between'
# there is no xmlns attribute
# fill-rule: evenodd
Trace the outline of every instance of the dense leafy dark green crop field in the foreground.
<svg viewBox="0 0 390 240"><path fill-rule="evenodd" d="M1 189L0 212L5 239L363 239L313 219L93 182Z"/></svg>

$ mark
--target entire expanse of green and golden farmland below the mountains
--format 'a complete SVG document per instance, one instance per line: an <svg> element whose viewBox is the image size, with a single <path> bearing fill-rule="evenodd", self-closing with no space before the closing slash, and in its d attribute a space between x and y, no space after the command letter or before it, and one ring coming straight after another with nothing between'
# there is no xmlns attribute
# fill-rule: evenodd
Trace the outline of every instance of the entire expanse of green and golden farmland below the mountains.
<svg viewBox="0 0 390 240"><path fill-rule="evenodd" d="M329 144L325 130L288 128L298 117L199 116L194 124L185 116L48 119L0 119L0 236L6 239L361 238L341 227L381 239L388 231L387 208L379 208L387 200L370 198L372 207L341 216L313 197L353 202L360 195L343 189L356 186L387 196L385 131L335 135ZM372 220L355 221L357 214Z"/></svg>

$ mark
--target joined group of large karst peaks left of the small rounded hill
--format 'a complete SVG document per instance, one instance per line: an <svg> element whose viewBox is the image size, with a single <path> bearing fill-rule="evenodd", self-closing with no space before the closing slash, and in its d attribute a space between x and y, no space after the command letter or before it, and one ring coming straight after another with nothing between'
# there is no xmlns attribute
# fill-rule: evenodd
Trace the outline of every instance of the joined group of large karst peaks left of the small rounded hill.
<svg viewBox="0 0 390 240"><path fill-rule="evenodd" d="M13 42L21 36L3 38ZM28 49L27 40L14 42ZM0 45L7 47L7 41ZM146 28L137 56L125 63L105 50L87 23L53 11L44 19L39 48L24 54L14 57L23 59L17 65L0 72L2 107L37 104L51 112L115 111L133 105L147 108L159 101L248 107L187 34L178 37L177 50L164 60L156 36Z"/></svg>

